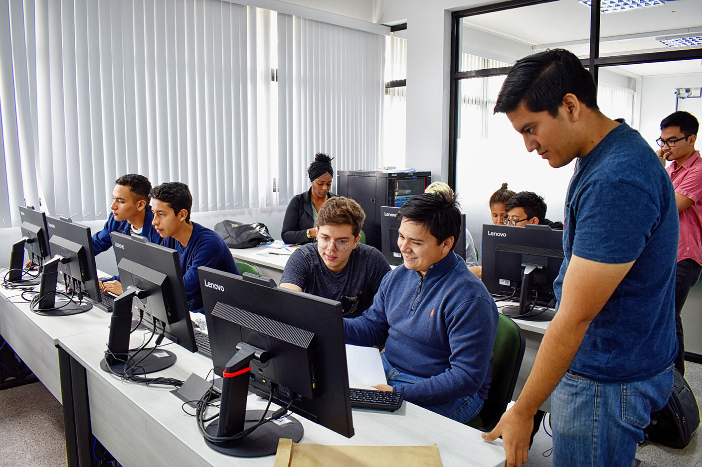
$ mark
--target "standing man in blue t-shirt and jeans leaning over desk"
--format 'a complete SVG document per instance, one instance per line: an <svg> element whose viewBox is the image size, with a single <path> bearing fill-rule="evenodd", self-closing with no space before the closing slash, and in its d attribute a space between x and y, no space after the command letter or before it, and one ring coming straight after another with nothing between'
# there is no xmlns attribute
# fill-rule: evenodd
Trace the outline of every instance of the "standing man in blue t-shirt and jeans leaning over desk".
<svg viewBox="0 0 702 467"><path fill-rule="evenodd" d="M629 467L673 385L673 185L639 133L600 112L596 95L578 57L546 50L517 61L495 106L552 167L577 160L556 316L517 402L483 435L502 435L508 467L527 461L532 419L551 392L554 466ZM623 207L633 222L612 224Z"/></svg>

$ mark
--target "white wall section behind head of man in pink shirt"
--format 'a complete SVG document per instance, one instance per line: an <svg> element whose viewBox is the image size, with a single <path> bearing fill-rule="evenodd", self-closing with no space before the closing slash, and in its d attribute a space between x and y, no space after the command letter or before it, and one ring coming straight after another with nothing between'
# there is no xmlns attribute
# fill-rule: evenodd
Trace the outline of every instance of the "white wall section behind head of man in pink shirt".
<svg viewBox="0 0 702 467"><path fill-rule="evenodd" d="M702 73L647 76L642 79L640 133L651 147L658 149L661 120L675 111L675 89L702 86ZM696 115L702 120L702 115Z"/></svg>

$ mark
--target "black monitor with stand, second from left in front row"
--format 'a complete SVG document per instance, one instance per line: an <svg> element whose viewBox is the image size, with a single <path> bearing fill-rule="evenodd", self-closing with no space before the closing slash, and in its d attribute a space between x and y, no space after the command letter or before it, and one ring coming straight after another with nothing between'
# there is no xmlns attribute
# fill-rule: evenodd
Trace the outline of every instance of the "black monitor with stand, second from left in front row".
<svg viewBox="0 0 702 467"><path fill-rule="evenodd" d="M100 302L98 269L90 227L66 217L46 217L48 243L53 257L41 269L37 306L32 311L46 316L83 313L93 307L85 297ZM58 292L59 273L66 292Z"/></svg>

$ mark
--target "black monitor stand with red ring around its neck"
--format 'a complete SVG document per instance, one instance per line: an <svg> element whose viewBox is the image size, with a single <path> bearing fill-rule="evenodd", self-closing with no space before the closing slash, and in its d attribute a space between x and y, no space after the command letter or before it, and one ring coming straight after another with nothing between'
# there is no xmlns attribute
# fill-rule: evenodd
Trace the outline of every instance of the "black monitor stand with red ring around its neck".
<svg viewBox="0 0 702 467"><path fill-rule="evenodd" d="M244 342L239 342L237 348L239 351L227 362L223 372L219 418L205 428L205 432L213 437L226 438L241 433L265 415L263 410L246 410L246 395L249 391L251 372L249 363L253 359L266 362L270 359L270 354ZM269 421L239 440L216 442L205 439L205 442L222 454L261 457L275 454L280 438L300 441L304 431L300 421L293 417L285 417L284 423Z"/></svg>

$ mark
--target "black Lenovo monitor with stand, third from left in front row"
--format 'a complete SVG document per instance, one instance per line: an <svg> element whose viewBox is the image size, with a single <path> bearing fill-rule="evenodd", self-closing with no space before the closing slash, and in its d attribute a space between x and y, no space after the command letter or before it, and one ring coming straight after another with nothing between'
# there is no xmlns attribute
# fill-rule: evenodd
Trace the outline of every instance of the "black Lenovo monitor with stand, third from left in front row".
<svg viewBox="0 0 702 467"><path fill-rule="evenodd" d="M124 292L114 299L110 338L100 367L120 375L165 370L176 363L174 353L163 348L129 351L129 336L135 307L142 323L159 334L157 346L162 335L191 352L197 351L178 252L141 236L117 232L111 236Z"/></svg>

